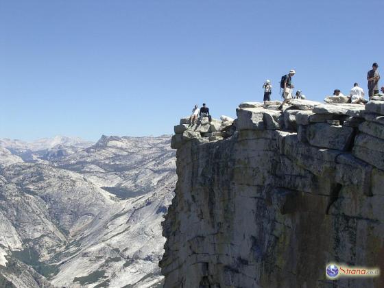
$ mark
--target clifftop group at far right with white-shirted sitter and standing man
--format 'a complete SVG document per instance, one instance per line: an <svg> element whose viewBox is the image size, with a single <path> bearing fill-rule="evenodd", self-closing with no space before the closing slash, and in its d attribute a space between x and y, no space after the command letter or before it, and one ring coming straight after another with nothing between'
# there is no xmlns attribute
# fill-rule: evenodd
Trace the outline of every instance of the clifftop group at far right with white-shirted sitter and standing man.
<svg viewBox="0 0 384 288"><path fill-rule="evenodd" d="M380 74L379 74L379 71L377 70L378 68L379 68L379 64L374 62L374 64L372 64L372 69L367 73L368 97L370 100L372 100L372 97L376 94L379 94L379 93L384 94L384 86L382 86L379 91ZM336 89L335 91L333 91L333 95L344 96L339 89ZM365 93L363 91L363 88L359 87L359 84L355 83L353 84L353 88L350 89L349 96L347 97L350 98L350 103L366 104L368 100L365 99L364 96L365 96Z"/></svg>

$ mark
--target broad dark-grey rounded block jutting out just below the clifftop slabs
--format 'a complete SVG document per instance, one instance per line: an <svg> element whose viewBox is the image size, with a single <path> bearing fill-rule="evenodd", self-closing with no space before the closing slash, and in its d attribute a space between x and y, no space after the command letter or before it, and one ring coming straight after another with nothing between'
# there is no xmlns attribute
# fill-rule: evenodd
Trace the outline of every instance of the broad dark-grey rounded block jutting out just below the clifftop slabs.
<svg viewBox="0 0 384 288"><path fill-rule="evenodd" d="M347 151L350 148L354 130L346 126L313 123L307 125L304 133L308 143L313 146Z"/></svg>

